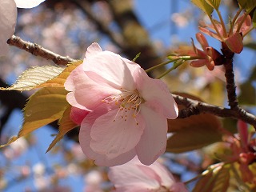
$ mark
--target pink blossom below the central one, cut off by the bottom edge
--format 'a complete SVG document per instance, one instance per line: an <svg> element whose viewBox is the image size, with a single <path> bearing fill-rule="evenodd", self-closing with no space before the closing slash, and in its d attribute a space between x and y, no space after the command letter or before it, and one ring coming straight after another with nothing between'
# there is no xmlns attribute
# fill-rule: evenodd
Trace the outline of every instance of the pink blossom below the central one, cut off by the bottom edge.
<svg viewBox="0 0 256 192"><path fill-rule="evenodd" d="M110 167L108 173L116 192L187 192L182 182L175 182L170 174L159 162L145 166L135 157L122 166Z"/></svg>

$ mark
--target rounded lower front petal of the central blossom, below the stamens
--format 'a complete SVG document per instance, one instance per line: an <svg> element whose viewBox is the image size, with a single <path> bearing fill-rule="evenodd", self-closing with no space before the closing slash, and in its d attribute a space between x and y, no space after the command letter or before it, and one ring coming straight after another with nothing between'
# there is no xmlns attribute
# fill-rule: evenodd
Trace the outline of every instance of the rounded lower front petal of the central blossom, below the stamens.
<svg viewBox="0 0 256 192"><path fill-rule="evenodd" d="M125 112L118 108L97 118L90 132L92 150L106 154L108 158L116 158L134 149L142 136L145 123L140 114L136 120L133 114L133 110Z"/></svg>

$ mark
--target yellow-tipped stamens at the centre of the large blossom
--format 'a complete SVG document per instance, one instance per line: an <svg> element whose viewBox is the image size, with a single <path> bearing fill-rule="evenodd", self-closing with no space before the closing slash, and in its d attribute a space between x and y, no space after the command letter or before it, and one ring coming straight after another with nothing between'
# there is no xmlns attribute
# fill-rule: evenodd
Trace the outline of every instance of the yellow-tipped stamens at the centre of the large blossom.
<svg viewBox="0 0 256 192"><path fill-rule="evenodd" d="M127 113L130 110L134 110L132 113L132 117L135 119L135 122L138 125L138 122L136 121L136 116L140 112L140 105L145 102L144 99L140 96L138 90L124 90L122 88L120 90L122 91L120 94L115 96L109 96L102 100L102 102L114 102L115 105L119 106L119 110L115 118L118 116L118 114L121 113L121 118L123 118L124 121L126 121L127 119Z"/></svg>

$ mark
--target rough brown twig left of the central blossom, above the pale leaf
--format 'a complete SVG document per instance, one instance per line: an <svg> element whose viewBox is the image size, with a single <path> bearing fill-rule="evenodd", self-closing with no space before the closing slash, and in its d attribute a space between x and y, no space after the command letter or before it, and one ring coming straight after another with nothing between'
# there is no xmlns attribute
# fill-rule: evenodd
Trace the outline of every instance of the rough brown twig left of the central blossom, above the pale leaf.
<svg viewBox="0 0 256 192"><path fill-rule="evenodd" d="M30 54L34 54L35 56L40 56L42 58L46 58L47 60L51 60L57 65L66 65L69 62L76 62L77 60L70 58L69 56L61 56L59 54L55 54L54 52L47 50L46 48L39 46L36 43L26 42L22 38L13 35L8 39L7 43L10 46L16 46L21 50L26 50Z"/></svg>

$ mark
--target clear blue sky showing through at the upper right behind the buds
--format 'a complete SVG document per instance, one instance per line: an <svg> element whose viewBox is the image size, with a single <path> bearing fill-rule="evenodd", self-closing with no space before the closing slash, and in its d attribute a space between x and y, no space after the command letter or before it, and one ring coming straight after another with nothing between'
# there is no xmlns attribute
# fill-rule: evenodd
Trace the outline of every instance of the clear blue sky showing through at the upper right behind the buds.
<svg viewBox="0 0 256 192"><path fill-rule="evenodd" d="M160 2L160 3L159 3ZM135 11L140 21L146 29L149 30L150 37L154 40L161 41L165 46L173 45L172 32L177 32L178 40L181 42L190 43L191 38L194 38L194 43L197 45L195 34L199 32L196 20L191 19L186 27L178 28L171 22L170 15L174 13L182 13L185 10L192 10L195 8L194 4L189 0L161 0L161 1L147 1L136 0L134 1ZM197 9L197 8L196 8ZM199 10L199 9L198 9ZM227 19L225 15L226 10L223 6L220 7L223 18ZM200 14L198 12L197 14ZM196 14L193 10L193 14ZM217 16L214 14L214 17ZM253 36L256 38L256 31L254 30ZM205 35L210 46L220 51L221 44L214 38ZM254 66L256 54L255 50L244 48L241 54L236 54L234 59L234 66L241 73L240 80L244 80L251 72L251 67Z"/></svg>

